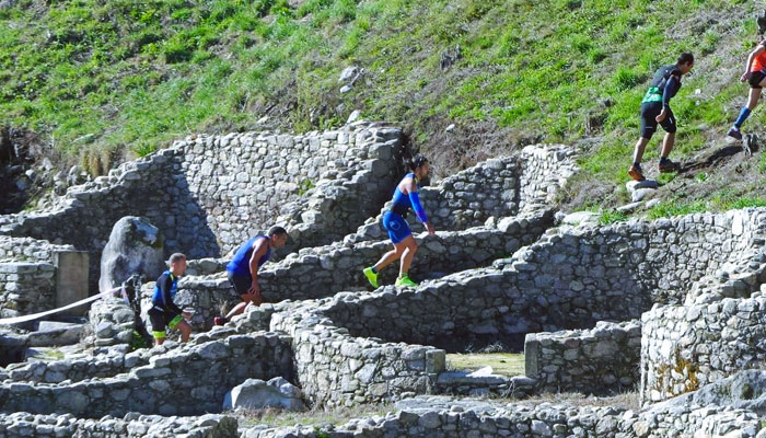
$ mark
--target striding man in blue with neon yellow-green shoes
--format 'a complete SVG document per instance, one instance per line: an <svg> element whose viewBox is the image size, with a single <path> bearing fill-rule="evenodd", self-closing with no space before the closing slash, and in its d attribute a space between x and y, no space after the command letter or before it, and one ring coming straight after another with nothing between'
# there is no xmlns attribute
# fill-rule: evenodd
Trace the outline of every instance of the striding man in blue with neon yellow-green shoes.
<svg viewBox="0 0 766 438"><path fill-rule="evenodd" d="M428 220L426 210L423 210L422 205L420 205L420 197L418 195L418 188L420 187L418 183L428 176L430 165L425 157L419 155L411 163L410 168L413 172L408 173L394 191L391 210L383 214L383 228L388 232L388 238L391 239L391 243L394 244L394 249L385 253L374 266L363 270L364 276L374 288L378 288L378 273L396 260L401 261L399 276L396 279L396 286L417 286L417 283L410 280L407 275L409 265L413 263L415 253L418 251L418 244L415 242L415 238L413 238L413 231L405 220L410 208L415 211L415 215L423 226L426 226L428 232L430 234L436 233L433 226Z"/></svg>

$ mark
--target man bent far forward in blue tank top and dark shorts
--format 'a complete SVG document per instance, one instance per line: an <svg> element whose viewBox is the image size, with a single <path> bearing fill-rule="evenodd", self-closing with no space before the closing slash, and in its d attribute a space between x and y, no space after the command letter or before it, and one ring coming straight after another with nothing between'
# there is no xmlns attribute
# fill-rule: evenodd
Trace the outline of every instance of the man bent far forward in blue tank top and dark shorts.
<svg viewBox="0 0 766 438"><path fill-rule="evenodd" d="M285 246L287 242L287 231L282 227L271 227L267 235L256 235L243 243L234 257L227 265L227 276L234 291L242 298L242 302L225 316L216 316L214 324L223 325L232 316L245 311L247 304L253 301L255 306L260 306L260 287L258 286L258 268L268 262L271 250Z"/></svg>

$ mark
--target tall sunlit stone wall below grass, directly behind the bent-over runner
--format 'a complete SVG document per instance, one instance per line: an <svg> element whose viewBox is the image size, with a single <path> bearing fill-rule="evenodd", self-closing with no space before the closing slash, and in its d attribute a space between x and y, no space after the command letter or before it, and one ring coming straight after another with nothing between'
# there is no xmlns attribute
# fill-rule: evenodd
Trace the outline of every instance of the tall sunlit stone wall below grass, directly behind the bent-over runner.
<svg viewBox="0 0 766 438"><path fill-rule="evenodd" d="M381 124L197 137L173 150L223 252L275 222L290 228L293 247L340 239L380 209L402 172L402 131Z"/></svg>

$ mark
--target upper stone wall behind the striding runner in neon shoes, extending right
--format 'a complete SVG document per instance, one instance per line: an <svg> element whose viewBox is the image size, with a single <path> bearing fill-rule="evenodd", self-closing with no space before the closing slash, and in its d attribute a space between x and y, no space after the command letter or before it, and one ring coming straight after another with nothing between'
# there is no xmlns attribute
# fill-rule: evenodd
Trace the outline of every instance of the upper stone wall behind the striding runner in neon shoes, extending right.
<svg viewBox="0 0 766 438"><path fill-rule="evenodd" d="M519 154L487 160L420 191L420 199L437 230L464 230L502 218L546 209L554 193L577 172L574 149L561 145L524 148ZM393 192L392 192L393 193ZM391 194L387 199L391 199ZM386 204L347 242L386 239L381 226ZM419 230L410 212L407 221Z"/></svg>

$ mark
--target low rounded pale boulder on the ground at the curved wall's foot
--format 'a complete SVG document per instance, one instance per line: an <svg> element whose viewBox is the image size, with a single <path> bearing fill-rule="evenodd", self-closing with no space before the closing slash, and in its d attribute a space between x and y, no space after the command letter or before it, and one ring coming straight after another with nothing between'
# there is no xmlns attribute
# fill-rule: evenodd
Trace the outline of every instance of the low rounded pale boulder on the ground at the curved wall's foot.
<svg viewBox="0 0 766 438"><path fill-rule="evenodd" d="M301 390L281 377L276 377L268 382L260 379L247 379L244 383L229 391L223 400L224 411L266 407L279 407L287 411L306 410L303 400L301 400Z"/></svg>

